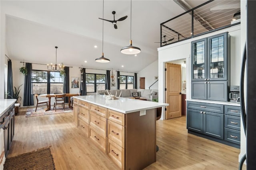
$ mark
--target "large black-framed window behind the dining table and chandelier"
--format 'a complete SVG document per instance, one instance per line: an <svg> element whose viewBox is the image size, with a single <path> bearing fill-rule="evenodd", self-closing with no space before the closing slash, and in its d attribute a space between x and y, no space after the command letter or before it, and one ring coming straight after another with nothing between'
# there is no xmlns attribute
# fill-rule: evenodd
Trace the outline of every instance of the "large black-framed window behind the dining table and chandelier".
<svg viewBox="0 0 256 170"><path fill-rule="evenodd" d="M60 72L32 70L33 94L63 93L63 78Z"/></svg>

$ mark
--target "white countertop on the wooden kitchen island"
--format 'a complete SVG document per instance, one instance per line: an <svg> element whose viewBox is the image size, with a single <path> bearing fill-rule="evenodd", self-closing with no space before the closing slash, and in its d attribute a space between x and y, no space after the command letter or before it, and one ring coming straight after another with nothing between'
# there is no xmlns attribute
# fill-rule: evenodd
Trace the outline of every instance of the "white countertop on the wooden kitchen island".
<svg viewBox="0 0 256 170"><path fill-rule="evenodd" d="M118 100L106 100L104 95L91 95L91 96L74 96L79 100L95 104L98 106L106 107L121 113L132 113L135 111L142 111L154 109L157 107L169 106L166 103L150 102L144 100L136 100L130 98L119 98Z"/></svg>

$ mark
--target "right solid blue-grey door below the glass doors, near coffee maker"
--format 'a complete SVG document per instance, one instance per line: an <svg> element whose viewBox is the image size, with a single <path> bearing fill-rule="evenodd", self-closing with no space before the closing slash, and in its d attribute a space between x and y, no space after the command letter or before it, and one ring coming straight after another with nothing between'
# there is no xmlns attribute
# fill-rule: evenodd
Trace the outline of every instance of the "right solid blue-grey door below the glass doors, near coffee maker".
<svg viewBox="0 0 256 170"><path fill-rule="evenodd" d="M207 100L228 101L227 81L208 81Z"/></svg>

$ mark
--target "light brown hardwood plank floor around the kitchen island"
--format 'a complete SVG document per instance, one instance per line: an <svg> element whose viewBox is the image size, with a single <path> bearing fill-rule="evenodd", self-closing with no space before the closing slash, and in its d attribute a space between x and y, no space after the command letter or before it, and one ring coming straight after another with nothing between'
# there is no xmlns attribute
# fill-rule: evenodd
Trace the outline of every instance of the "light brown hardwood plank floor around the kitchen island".
<svg viewBox="0 0 256 170"><path fill-rule="evenodd" d="M51 147L57 170L119 169L73 124L73 112L15 117L14 141L8 156ZM156 162L146 170L237 170L240 149L187 133L186 117L158 120ZM244 165L243 169L246 169Z"/></svg>

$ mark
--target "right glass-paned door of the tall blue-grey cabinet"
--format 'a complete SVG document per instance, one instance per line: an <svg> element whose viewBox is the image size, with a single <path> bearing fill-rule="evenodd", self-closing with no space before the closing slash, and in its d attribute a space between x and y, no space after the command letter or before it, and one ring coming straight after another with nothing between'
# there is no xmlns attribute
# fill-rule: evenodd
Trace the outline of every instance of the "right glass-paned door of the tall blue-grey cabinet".
<svg viewBox="0 0 256 170"><path fill-rule="evenodd" d="M209 61L208 78L210 80L223 80L226 78L226 34L210 37L208 39Z"/></svg>

